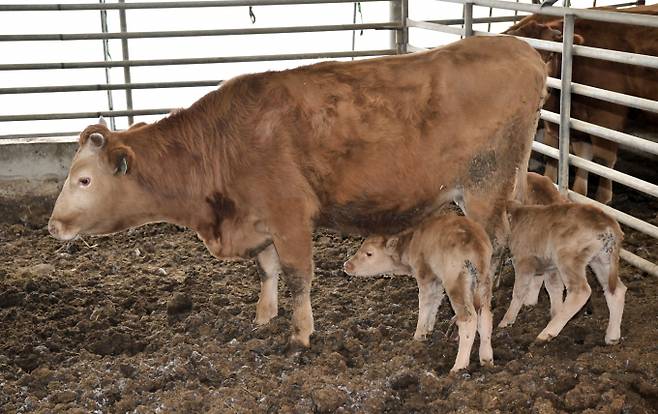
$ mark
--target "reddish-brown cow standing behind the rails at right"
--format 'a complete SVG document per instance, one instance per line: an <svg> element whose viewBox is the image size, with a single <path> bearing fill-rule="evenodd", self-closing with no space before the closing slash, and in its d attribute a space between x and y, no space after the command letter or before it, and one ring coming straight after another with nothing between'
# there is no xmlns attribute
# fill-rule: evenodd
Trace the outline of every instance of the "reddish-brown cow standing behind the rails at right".
<svg viewBox="0 0 658 414"><path fill-rule="evenodd" d="M610 10L610 8L602 9ZM658 14L658 5L616 11L655 15ZM562 26L561 18L532 15L510 27L505 33L561 42ZM576 20L574 32L576 34L574 41L578 44L658 56L658 28ZM561 56L546 52L543 52L542 56L548 63L549 76L559 78ZM655 69L574 56L572 80L615 92L658 100L658 74ZM559 105L559 91L552 90L546 100L545 108L549 111L559 112ZM621 131L628 123L630 112L630 109L625 106L582 95L571 95L571 116L581 121ZM658 126L656 118L647 118L647 121L650 123L650 127ZM548 121L544 122L544 126L545 142L557 147L558 126ZM588 160L596 159L606 167L613 168L617 162L617 143L594 135L572 130L571 148L576 155ZM555 160L548 161L546 175L556 181L557 162ZM576 169L574 191L587 195L587 179L586 170ZM602 203L608 203L612 199L612 182L609 179L600 178L596 199Z"/></svg>

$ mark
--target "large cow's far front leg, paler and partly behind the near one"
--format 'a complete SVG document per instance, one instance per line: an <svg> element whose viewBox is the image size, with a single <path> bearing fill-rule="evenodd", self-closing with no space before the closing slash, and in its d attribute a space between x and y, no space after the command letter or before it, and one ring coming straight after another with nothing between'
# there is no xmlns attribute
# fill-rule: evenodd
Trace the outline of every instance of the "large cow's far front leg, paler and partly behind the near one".
<svg viewBox="0 0 658 414"><path fill-rule="evenodd" d="M256 264L260 277L260 293L254 322L257 325L264 325L278 314L278 282L281 263L279 263L279 255L273 244L258 254Z"/></svg>

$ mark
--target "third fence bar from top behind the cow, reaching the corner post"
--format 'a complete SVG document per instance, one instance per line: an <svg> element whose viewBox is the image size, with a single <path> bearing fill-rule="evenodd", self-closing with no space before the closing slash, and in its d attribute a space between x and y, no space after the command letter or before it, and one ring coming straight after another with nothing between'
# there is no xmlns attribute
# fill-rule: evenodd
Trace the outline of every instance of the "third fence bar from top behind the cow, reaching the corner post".
<svg viewBox="0 0 658 414"><path fill-rule="evenodd" d="M0 70L36 70L36 69L87 69L124 66L169 66L169 65L201 65L212 63L235 62L268 62L278 60L325 59L343 57L363 57L395 55L394 49L380 50L349 50L345 52L320 53L290 53L282 55L253 55L253 56L221 56L186 59L145 59L145 60L116 60L113 62L59 62L59 63L14 63L0 65Z"/></svg>

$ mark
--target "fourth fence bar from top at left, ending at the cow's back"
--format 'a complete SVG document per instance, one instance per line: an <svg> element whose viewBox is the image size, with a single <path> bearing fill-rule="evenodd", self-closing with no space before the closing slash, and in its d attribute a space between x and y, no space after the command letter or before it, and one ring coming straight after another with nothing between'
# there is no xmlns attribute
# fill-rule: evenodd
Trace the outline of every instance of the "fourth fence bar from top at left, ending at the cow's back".
<svg viewBox="0 0 658 414"><path fill-rule="evenodd" d="M222 80L200 80L180 82L141 82L141 83L97 83L88 85L59 85L59 86L17 86L13 88L0 88L0 95L27 94L27 93L53 93L53 92L86 92L86 91L115 91L123 89L163 89L163 88L196 88L202 86L219 86Z"/></svg>

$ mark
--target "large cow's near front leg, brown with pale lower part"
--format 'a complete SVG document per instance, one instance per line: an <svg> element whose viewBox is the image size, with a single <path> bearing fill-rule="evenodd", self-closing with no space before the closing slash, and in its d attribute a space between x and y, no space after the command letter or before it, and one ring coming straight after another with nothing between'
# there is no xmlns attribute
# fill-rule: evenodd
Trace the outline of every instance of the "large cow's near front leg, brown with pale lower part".
<svg viewBox="0 0 658 414"><path fill-rule="evenodd" d="M274 246L279 254L286 286L292 295L292 335L290 345L310 346L313 333L311 309L311 280L313 279L312 229L288 227L286 232L275 231Z"/></svg>

